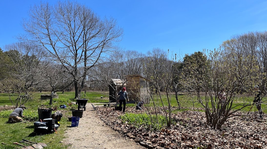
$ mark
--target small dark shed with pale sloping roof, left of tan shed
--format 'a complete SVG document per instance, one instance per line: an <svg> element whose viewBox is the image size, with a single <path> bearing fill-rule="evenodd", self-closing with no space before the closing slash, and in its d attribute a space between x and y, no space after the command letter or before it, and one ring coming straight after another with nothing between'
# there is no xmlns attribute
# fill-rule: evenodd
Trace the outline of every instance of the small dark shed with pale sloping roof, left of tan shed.
<svg viewBox="0 0 267 149"><path fill-rule="evenodd" d="M111 79L109 83L109 102L116 102L118 92L123 86L126 87L126 81L121 79ZM127 88L126 88L127 90Z"/></svg>

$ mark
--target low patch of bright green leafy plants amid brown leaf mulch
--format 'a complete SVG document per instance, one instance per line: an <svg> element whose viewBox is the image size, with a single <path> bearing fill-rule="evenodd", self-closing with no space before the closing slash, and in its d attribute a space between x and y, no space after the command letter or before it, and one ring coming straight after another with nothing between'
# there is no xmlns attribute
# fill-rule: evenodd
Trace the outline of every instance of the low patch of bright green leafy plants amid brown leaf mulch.
<svg viewBox="0 0 267 149"><path fill-rule="evenodd" d="M141 125L144 127L150 127L154 130L160 130L163 126L166 125L165 116L158 115L159 122L157 123L156 115L152 115L153 122L149 118L147 114L134 114L134 113L125 113L120 116L120 119L125 123L140 127Z"/></svg>

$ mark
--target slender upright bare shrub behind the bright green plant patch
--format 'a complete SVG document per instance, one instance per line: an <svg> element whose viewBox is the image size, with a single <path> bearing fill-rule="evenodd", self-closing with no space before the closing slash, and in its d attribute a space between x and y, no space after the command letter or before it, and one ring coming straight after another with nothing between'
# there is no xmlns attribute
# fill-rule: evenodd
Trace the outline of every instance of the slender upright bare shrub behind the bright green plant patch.
<svg viewBox="0 0 267 149"><path fill-rule="evenodd" d="M155 48L152 52L148 52L147 61L145 61L144 65L144 74L153 84L153 86L147 91L150 95L152 102L152 110L153 113L158 115L162 113L166 118L166 125L168 127L171 126L171 91L173 85L173 61L168 60L168 53L162 49ZM157 95L154 96L152 91L157 91ZM162 92L165 93L162 94ZM163 96L166 96L168 105L163 103ZM159 102L163 106L163 110L159 109ZM146 112L150 116L151 121L151 109L146 106ZM157 116L156 116L157 118ZM158 119L156 119L156 123L158 123Z"/></svg>

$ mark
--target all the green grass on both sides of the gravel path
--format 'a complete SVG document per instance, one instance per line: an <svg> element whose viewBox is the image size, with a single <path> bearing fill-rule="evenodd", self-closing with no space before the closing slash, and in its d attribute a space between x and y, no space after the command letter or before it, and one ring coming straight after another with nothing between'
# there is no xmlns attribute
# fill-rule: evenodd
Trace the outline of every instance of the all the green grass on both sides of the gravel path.
<svg viewBox="0 0 267 149"><path fill-rule="evenodd" d="M71 110L72 109L77 109L77 105L72 105L72 106L68 106L67 103L70 103L71 101L76 101L74 100L74 92L65 92L64 94L62 94L62 92L58 92L58 99L54 99L53 100L53 104L52 106L55 107L57 106L59 108L59 105L61 104L65 104L67 105L67 108L65 109L58 109L58 110L64 110L64 115L63 118L60 121L60 127L57 130L57 134L47 134L47 135L37 135L34 136L34 126L33 126L33 122L37 121L38 119L38 112L37 112L37 108L38 107L47 107L50 108L52 106L49 106L49 100L40 100L41 94L49 94L49 92L37 92L34 93L34 97L32 100L30 100L29 102L27 102L25 104L25 106L27 107L27 109L24 111L24 115L25 118L23 122L21 123L14 123L14 124L7 124L6 121L9 117L9 114L12 112L12 110L2 110L0 111L0 140L2 140L2 142L7 143L7 144L12 144L13 142L19 142L22 139L27 139L27 140L32 140L34 142L43 142L48 144L48 147L46 148L53 148L53 149L64 149L67 148L67 146L65 146L62 143L59 143L63 138L64 138L64 132L65 130L71 125L70 122L68 122L68 117L71 116ZM88 103L92 102L92 103L107 103L109 101L108 98L108 92L97 92L97 91L88 91L86 93L86 95L82 94L81 98L86 98L89 99ZM101 96L103 96L103 98L101 98ZM163 103L164 105L167 106L167 100L166 97L163 95ZM15 99L13 97L13 99ZM176 110L173 112L179 112L179 111L184 111L184 110L192 110L193 107L193 103L191 101L190 98L187 98L184 95L178 96L179 102L181 104L181 107L183 107L181 110ZM250 98L249 100L251 100L252 102L252 98ZM265 100L265 99L264 99ZM155 104L158 104L159 106L162 106L162 103L160 100L157 100L156 95L154 95L154 101ZM237 99L234 101L234 105L238 105L240 103L242 103L243 99ZM0 106L3 105L11 105L10 101L9 101L9 97L7 94L0 94ZM126 104L128 107L135 107L136 104ZM148 106L152 106L152 101ZM175 100L175 96L172 95L171 96L171 106L174 107L178 107L178 104ZM195 108L201 108L202 105L195 102L194 103L194 107ZM243 110L249 111L251 106L244 108ZM238 107L237 107L238 108ZM253 108L254 111L256 111L256 106L254 106ZM251 110L251 111L253 111ZM262 110L264 112L267 112L266 110L266 104L262 104ZM128 120L127 118L132 118L130 120ZM128 116L125 117L123 119L127 120L127 121L136 121L135 119L142 119L145 120L147 119L146 116L144 115L137 115L137 117L135 118L134 116ZM133 119L134 118L134 119ZM140 121L140 120L138 120ZM155 126L155 127L159 127L159 126ZM25 144L26 145L26 144ZM15 144L13 145L15 146ZM17 145L16 145L17 146ZM0 144L0 148L13 148L13 147L8 147L6 145Z"/></svg>

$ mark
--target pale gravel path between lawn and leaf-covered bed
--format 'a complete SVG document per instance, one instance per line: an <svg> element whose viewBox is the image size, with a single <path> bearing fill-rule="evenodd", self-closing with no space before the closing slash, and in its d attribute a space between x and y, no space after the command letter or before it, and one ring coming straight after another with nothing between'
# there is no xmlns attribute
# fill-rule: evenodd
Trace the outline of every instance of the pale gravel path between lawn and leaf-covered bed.
<svg viewBox="0 0 267 149"><path fill-rule="evenodd" d="M92 110L92 105L88 103L79 120L79 126L70 127L66 131L64 142L71 145L69 149L145 149L132 139L112 130Z"/></svg>

